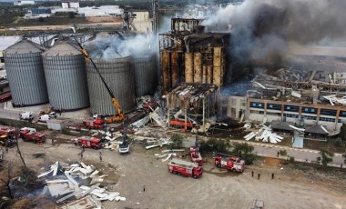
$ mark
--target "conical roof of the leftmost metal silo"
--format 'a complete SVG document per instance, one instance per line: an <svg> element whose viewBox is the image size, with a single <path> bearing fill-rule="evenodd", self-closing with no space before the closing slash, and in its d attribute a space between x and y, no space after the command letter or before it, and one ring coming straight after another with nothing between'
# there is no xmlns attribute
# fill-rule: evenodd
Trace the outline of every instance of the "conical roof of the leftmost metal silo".
<svg viewBox="0 0 346 209"><path fill-rule="evenodd" d="M5 49L4 54L28 54L28 53L42 53L45 47L37 45L36 43L27 39L21 40L15 45L11 45Z"/></svg>

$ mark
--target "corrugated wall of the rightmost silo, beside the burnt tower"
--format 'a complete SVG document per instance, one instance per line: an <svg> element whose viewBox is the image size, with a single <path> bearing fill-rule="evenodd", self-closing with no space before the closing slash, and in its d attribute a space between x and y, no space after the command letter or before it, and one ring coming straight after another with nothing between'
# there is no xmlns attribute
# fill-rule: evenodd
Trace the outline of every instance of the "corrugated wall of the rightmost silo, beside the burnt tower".
<svg viewBox="0 0 346 209"><path fill-rule="evenodd" d="M136 75L136 95L150 95L158 85L156 55L136 56L132 58Z"/></svg>

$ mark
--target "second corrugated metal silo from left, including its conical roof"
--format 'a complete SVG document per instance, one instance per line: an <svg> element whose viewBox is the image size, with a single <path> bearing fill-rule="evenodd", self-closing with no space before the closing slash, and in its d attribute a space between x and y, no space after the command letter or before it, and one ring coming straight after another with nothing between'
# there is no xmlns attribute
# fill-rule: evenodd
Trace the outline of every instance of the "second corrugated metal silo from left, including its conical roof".
<svg viewBox="0 0 346 209"><path fill-rule="evenodd" d="M42 54L49 104L63 110L89 106L84 55L61 41Z"/></svg>

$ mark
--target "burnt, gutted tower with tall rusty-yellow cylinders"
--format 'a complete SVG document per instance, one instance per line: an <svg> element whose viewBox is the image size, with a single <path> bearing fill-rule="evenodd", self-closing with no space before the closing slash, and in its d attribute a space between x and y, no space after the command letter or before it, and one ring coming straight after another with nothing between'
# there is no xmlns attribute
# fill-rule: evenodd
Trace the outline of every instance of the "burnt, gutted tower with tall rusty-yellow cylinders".
<svg viewBox="0 0 346 209"><path fill-rule="evenodd" d="M204 33L204 26L198 25L201 21L172 18L171 31L159 35L162 90L168 95L168 118L183 111L185 129L190 125L187 117L192 114L186 110L192 104L200 107L193 111L195 120L200 122L203 118L198 124L204 126L206 118L215 117L228 63L229 33ZM184 92L187 94L181 99Z"/></svg>

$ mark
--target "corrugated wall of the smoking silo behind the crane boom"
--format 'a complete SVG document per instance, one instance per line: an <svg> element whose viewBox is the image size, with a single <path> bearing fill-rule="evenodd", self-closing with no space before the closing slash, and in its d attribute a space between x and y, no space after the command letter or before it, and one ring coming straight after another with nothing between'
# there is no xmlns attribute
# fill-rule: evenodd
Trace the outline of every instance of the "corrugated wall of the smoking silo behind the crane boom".
<svg viewBox="0 0 346 209"><path fill-rule="evenodd" d="M134 110L136 107L135 76L131 67L131 57L93 60L107 85L113 90L122 111L128 113ZM92 114L116 114L116 108L111 102L106 86L97 75L94 66L87 60L86 78Z"/></svg>

